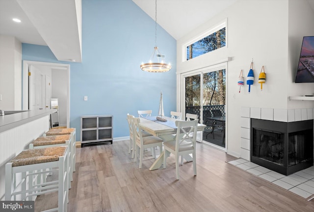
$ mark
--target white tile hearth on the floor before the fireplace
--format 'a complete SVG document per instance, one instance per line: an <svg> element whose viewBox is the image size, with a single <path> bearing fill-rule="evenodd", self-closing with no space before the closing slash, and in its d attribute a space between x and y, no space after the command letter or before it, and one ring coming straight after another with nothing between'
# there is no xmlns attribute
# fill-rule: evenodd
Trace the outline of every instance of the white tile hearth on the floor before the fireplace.
<svg viewBox="0 0 314 212"><path fill-rule="evenodd" d="M286 176L245 159L231 160L228 163L285 188L308 201L314 199L314 166Z"/></svg>

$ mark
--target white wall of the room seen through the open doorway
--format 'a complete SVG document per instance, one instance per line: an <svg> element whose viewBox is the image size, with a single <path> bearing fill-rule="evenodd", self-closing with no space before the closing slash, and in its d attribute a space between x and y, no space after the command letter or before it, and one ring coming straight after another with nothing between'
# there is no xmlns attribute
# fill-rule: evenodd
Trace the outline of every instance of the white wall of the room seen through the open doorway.
<svg viewBox="0 0 314 212"><path fill-rule="evenodd" d="M52 69L52 98L59 102L59 126L67 126L67 71Z"/></svg>

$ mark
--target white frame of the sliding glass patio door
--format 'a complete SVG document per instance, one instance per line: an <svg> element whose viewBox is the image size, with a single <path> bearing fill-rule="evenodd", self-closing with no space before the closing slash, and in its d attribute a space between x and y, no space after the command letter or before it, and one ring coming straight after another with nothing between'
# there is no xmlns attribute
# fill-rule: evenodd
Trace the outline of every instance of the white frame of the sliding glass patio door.
<svg viewBox="0 0 314 212"><path fill-rule="evenodd" d="M210 66L207 66L207 67L204 67L204 68L200 68L200 69L197 69L197 70L191 70L191 71L187 71L187 72L184 72L184 73L181 73L180 74L180 111L183 112L183 117L185 118L185 78L186 77L190 77L190 76L194 76L194 75L198 75L200 74L201 75L201 81L203 80L203 74L204 73L208 73L208 72L213 72L213 71L218 71L218 70L221 70L221 69L225 69L226 70L226 106L225 106L225 113L226 113L226 123L225 123L225 148L219 148L219 147L216 147L218 149L222 149L224 150L225 152L227 152L227 149L228 149L228 62L222 62L222 63L219 63L219 64L215 64L215 65L210 65ZM201 97L203 96L203 83L201 83ZM200 107L200 116L203 117L203 101L201 102L201 107ZM202 137L203 139L203 137ZM203 142L203 141L201 141Z"/></svg>

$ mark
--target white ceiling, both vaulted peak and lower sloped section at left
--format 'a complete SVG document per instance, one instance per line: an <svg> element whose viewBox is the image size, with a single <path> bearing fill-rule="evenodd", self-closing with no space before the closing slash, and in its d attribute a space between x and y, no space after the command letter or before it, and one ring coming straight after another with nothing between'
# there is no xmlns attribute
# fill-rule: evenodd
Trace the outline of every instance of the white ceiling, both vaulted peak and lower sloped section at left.
<svg viewBox="0 0 314 212"><path fill-rule="evenodd" d="M132 1L155 20L155 0ZM157 23L180 39L236 1L157 0ZM314 0L307 1L314 9ZM0 0L0 34L47 45L58 60L81 62L81 1Z"/></svg>

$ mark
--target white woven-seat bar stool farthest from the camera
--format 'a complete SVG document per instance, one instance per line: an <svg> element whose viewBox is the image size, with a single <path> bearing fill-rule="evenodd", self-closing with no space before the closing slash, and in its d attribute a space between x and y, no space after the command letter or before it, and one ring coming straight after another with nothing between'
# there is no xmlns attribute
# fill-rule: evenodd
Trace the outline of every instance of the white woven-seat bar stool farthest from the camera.
<svg viewBox="0 0 314 212"><path fill-rule="evenodd" d="M76 129L75 128L61 128L61 129L50 129L48 132L44 133L43 136L48 136L48 135L65 135L65 134L71 134L71 140L72 140L72 146L71 146L71 159L70 159L70 166L72 168L72 172L75 172L75 163L76 163ZM71 181L73 179L73 173L70 173Z"/></svg>

